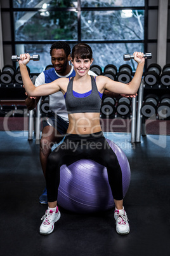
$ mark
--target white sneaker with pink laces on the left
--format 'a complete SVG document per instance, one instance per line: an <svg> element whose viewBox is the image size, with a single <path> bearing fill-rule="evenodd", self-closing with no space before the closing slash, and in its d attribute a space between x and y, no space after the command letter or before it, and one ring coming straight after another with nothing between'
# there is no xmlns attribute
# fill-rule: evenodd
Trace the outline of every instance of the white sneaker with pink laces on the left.
<svg viewBox="0 0 170 256"><path fill-rule="evenodd" d="M55 222L57 222L61 217L61 213L56 207L56 211L46 210L46 214L41 218L42 224L39 228L40 234L51 234L55 227Z"/></svg>

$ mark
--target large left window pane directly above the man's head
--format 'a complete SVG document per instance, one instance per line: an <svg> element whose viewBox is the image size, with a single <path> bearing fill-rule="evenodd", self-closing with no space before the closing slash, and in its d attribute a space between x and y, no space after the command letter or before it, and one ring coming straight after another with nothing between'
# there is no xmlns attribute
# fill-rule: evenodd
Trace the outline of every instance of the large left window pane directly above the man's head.
<svg viewBox="0 0 170 256"><path fill-rule="evenodd" d="M77 39L75 11L15 12L15 40Z"/></svg>

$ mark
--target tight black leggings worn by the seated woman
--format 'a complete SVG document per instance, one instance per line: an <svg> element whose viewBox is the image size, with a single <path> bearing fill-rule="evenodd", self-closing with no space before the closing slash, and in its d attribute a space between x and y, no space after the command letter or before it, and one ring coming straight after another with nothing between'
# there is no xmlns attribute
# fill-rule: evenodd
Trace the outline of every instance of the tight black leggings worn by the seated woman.
<svg viewBox="0 0 170 256"><path fill-rule="evenodd" d="M88 135L67 134L48 157L46 187L48 202L57 201L60 184L60 167L80 159L92 159L107 167L108 182L116 200L123 199L122 171L117 157L102 132Z"/></svg>

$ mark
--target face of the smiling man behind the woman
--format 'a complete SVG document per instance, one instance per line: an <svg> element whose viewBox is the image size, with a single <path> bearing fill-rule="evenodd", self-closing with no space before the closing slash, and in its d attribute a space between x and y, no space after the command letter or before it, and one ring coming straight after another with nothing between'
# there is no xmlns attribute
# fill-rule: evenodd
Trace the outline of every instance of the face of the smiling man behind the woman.
<svg viewBox="0 0 170 256"><path fill-rule="evenodd" d="M51 52L51 63L59 75L67 75L66 69L69 65L70 55L66 57L63 49L53 49Z"/></svg>

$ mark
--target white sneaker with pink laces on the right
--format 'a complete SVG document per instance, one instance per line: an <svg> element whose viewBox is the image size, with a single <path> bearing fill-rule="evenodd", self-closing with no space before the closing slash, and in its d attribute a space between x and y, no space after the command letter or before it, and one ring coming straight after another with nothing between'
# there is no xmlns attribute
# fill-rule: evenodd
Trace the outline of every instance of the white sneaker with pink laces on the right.
<svg viewBox="0 0 170 256"><path fill-rule="evenodd" d="M126 214L126 211L124 210L115 210L114 213L115 218L115 225L116 225L116 231L118 234L128 234L130 231L129 223L128 223L128 216Z"/></svg>

